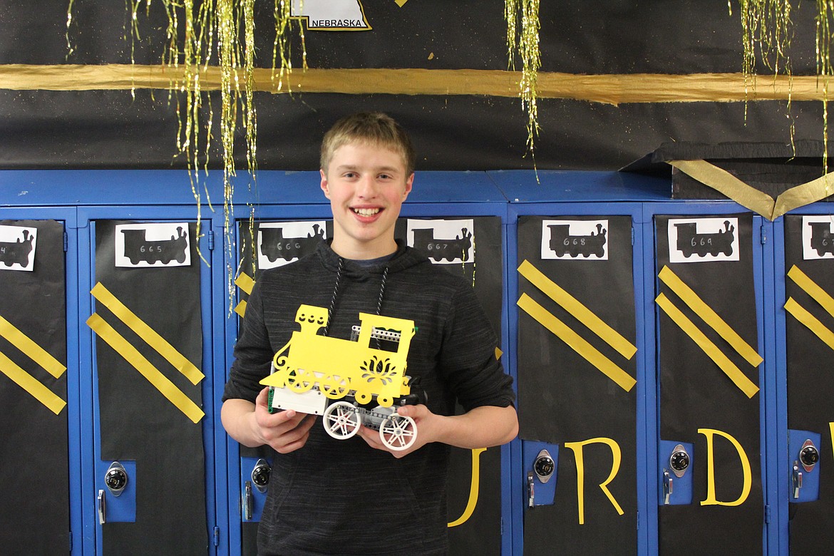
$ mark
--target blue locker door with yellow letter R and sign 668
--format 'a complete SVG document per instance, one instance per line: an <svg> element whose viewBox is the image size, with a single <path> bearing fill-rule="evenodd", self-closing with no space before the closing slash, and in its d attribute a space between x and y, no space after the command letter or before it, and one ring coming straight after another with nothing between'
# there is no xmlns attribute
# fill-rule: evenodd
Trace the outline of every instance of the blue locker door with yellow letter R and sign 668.
<svg viewBox="0 0 834 556"><path fill-rule="evenodd" d="M644 461L639 205L514 209L524 212L510 287L521 439L514 518L524 531L514 553L634 554Z"/></svg>

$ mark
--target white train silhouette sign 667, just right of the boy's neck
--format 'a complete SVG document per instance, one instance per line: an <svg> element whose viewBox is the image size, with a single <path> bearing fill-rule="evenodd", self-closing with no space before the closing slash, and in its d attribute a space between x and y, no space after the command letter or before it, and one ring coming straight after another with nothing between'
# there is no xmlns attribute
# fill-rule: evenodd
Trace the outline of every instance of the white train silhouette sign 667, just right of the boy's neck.
<svg viewBox="0 0 834 556"><path fill-rule="evenodd" d="M417 220L409 218L406 243L427 254L435 264L475 261L475 220Z"/></svg>

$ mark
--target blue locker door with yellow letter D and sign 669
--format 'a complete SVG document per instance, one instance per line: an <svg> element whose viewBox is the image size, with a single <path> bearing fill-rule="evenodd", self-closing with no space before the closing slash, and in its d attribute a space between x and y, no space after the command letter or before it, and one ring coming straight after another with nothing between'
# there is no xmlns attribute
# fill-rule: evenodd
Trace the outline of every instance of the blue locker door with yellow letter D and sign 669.
<svg viewBox="0 0 834 556"><path fill-rule="evenodd" d="M761 217L733 207L655 209L661 554L766 549Z"/></svg>

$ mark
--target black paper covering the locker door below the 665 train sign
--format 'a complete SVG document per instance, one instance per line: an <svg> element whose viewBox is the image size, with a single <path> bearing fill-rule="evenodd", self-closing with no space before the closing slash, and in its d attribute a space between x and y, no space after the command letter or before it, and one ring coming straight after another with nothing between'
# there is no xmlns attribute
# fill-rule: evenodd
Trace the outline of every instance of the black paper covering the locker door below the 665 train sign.
<svg viewBox="0 0 834 556"><path fill-rule="evenodd" d="M115 226L95 223L95 280L203 370L200 272L196 226L189 224L191 265L175 268L116 268ZM133 333L102 303L98 313L198 406L196 386ZM99 427L104 460L135 460L135 523L105 523L103 553L205 554L205 456L201 423L192 423L173 403L96 338Z"/></svg>

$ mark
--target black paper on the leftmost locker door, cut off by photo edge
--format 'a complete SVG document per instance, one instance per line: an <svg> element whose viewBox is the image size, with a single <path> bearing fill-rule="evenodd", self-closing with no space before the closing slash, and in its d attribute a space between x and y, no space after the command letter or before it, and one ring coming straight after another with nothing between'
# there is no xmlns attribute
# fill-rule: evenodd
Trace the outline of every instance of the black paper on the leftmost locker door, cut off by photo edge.
<svg viewBox="0 0 834 556"><path fill-rule="evenodd" d="M67 364L63 223L0 221L38 228L33 272L0 269L0 316ZM53 378L0 338L0 352L67 401L67 373ZM0 549L4 554L69 552L68 412L55 415L0 374ZM48 503L44 503L48 501Z"/></svg>

